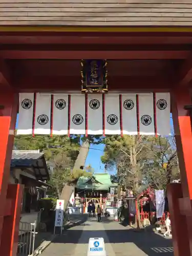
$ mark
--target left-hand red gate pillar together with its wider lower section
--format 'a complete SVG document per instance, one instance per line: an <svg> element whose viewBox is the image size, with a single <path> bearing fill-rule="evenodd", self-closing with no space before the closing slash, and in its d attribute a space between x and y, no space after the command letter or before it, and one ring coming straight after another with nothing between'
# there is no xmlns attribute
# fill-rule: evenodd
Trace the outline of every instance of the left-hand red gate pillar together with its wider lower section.
<svg viewBox="0 0 192 256"><path fill-rule="evenodd" d="M0 94L0 252L16 256L23 186L8 184L18 109L18 94Z"/></svg>

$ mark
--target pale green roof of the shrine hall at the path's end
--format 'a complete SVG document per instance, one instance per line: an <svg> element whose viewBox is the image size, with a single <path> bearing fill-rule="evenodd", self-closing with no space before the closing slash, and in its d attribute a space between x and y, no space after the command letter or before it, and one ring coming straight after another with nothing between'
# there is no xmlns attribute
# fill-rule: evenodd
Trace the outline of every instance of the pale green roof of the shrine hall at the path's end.
<svg viewBox="0 0 192 256"><path fill-rule="evenodd" d="M117 183L111 182L109 174L93 174L92 177L80 177L76 188L92 190L108 190L110 187L117 187Z"/></svg>

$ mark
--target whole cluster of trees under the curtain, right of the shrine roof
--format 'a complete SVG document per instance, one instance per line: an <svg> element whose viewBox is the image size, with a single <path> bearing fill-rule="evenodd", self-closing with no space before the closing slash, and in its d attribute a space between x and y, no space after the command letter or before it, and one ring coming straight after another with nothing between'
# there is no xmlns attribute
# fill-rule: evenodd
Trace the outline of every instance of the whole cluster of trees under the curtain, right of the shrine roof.
<svg viewBox="0 0 192 256"><path fill-rule="evenodd" d="M179 177L177 151L173 138L153 136L107 136L104 155L106 168L117 168L121 183L137 194L141 184L165 188ZM165 165L166 164L166 168Z"/></svg>

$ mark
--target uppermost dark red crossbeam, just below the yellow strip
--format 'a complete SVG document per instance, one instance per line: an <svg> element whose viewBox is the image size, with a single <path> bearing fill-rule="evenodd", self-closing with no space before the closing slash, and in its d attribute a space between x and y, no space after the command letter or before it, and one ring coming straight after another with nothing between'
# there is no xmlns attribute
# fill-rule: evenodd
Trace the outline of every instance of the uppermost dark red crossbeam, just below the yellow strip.
<svg viewBox="0 0 192 256"><path fill-rule="evenodd" d="M0 44L190 44L189 32L0 32Z"/></svg>

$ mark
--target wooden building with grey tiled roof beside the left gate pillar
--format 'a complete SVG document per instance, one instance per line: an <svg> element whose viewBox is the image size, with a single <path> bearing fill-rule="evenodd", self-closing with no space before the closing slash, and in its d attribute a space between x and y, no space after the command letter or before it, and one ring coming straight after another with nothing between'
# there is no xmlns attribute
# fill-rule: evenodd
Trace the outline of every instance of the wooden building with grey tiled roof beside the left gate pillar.
<svg viewBox="0 0 192 256"><path fill-rule="evenodd" d="M24 185L23 216L37 211L37 200L46 197L47 180L49 180L49 172L44 153L13 151L9 183Z"/></svg>

